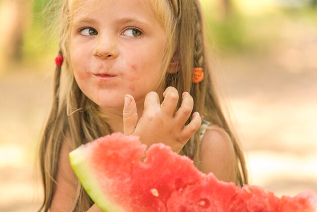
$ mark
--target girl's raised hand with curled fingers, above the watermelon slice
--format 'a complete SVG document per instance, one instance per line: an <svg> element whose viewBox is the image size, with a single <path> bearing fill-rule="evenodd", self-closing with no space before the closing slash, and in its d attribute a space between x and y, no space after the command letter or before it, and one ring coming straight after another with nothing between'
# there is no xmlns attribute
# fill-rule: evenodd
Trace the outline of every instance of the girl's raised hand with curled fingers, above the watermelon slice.
<svg viewBox="0 0 317 212"><path fill-rule="evenodd" d="M155 143L164 143L179 153L199 129L202 119L199 113L195 112L190 123L185 126L193 109L193 98L188 92L182 94L181 107L176 113L177 90L168 87L163 97L164 100L160 104L159 95L149 92L144 100L142 117L138 121L135 100L131 95L126 95L123 110L124 133L140 136L141 142L148 147Z"/></svg>

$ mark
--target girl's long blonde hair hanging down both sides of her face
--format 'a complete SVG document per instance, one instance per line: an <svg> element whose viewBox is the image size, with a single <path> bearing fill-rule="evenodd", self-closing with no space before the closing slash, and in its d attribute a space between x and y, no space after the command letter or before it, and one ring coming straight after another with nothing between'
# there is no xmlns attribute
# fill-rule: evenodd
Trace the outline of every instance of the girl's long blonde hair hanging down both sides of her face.
<svg viewBox="0 0 317 212"><path fill-rule="evenodd" d="M62 6L60 54L63 53L65 58L65 72L61 75L60 67L57 67L53 106L39 150L44 185L44 202L39 211L48 211L52 203L62 142L69 138L74 149L111 133L109 125L98 112L97 105L84 95L71 71L69 31L73 12L71 7L74 1L64 0ZM180 94L188 91L194 99L193 112L199 112L204 120L225 130L230 137L235 154L237 173L235 183L243 186L248 183L246 164L240 145L222 112L212 82L212 70L207 59L204 23L199 0L148 0L144 1L144 4L152 8L157 20L165 27L167 33L167 45L163 58L165 71L160 88L173 86ZM178 69L172 74L166 71L171 62L176 64ZM202 67L204 70L205 78L201 83L191 82L194 67ZM200 132L201 130L198 130L180 152L187 156L193 152L194 164L198 168L200 168ZM74 200L72 211L86 211L92 204L93 202L78 183L77 198Z"/></svg>

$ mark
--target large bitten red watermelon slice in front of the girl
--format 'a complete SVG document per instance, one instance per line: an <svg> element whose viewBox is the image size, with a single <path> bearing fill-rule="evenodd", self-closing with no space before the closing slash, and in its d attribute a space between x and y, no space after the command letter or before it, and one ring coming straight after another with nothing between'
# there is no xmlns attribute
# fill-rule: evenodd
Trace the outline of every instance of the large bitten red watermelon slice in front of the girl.
<svg viewBox="0 0 317 212"><path fill-rule="evenodd" d="M164 144L145 150L137 136L113 133L78 147L69 157L104 212L317 211L317 195L311 191L278 198L257 186L218 181Z"/></svg>

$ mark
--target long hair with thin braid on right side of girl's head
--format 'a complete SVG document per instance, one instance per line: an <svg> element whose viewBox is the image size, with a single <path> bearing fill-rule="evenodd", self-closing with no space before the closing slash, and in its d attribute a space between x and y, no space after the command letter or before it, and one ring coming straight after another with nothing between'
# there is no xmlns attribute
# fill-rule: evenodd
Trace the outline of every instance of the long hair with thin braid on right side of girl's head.
<svg viewBox="0 0 317 212"><path fill-rule="evenodd" d="M167 74L164 87L173 86L179 93L188 91L194 100L192 113L199 112L203 120L210 121L225 130L231 140L236 158L235 183L243 186L248 183L245 159L240 144L223 114L213 82L212 69L207 58L207 42L199 0L170 0L169 2L175 24L174 33L172 33L173 40L176 42L173 55L174 57L176 55L180 69L177 73ZM196 67L202 68L204 72L204 79L199 83L191 82L192 72ZM190 120L191 117L188 122ZM193 153L194 164L198 168L200 168L200 133L201 130L198 130L180 152L187 156Z"/></svg>

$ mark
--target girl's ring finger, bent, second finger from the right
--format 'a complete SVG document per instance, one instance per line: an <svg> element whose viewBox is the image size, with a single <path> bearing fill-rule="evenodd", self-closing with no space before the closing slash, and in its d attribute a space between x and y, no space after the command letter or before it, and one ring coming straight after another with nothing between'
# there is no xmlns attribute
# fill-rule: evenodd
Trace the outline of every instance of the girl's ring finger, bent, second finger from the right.
<svg viewBox="0 0 317 212"><path fill-rule="evenodd" d="M192 112L192 108L194 107L194 100L191 97L191 95L188 92L184 92L182 94L183 101L181 104L181 107L178 109L178 111L175 114L175 119L184 125L188 118L190 117L190 114Z"/></svg>

